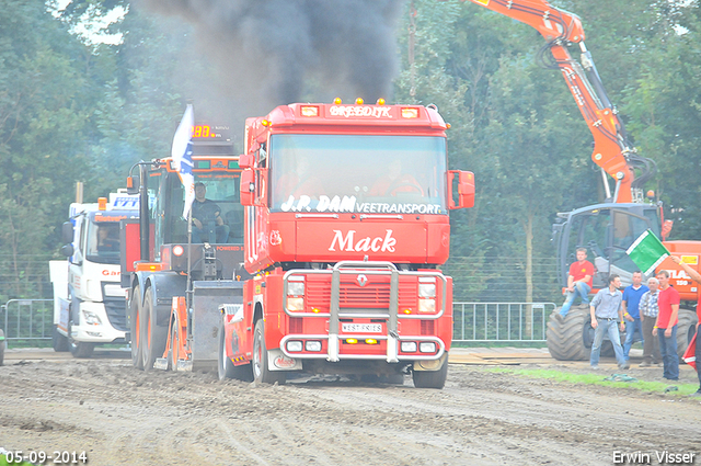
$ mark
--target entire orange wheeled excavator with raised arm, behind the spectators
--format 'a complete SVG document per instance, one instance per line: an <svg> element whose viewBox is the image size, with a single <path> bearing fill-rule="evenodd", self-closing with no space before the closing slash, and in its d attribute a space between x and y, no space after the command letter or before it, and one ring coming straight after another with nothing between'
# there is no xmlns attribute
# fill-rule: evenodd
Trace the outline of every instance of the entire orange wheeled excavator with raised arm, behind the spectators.
<svg viewBox="0 0 701 466"><path fill-rule="evenodd" d="M462 0L466 1L466 0ZM617 273L623 284L631 283L637 266L625 250L645 230L666 239L671 221L664 220L662 203L645 200L644 183L656 173L652 159L637 154L628 138L623 122L611 104L591 54L585 46L582 20L573 13L554 8L544 0L470 0L505 16L535 27L545 39L539 59L548 68L560 69L582 116L594 136L591 160L601 169L607 200L568 213L559 213L553 225L553 242L558 253L558 276L567 283L567 265L575 260L576 248L587 248L594 257L597 272L594 287L606 285L609 274ZM571 48L578 46L578 60ZM575 48L576 49L576 48ZM548 54L550 52L550 54ZM613 181L613 192L610 183ZM691 268L699 269L700 241L665 241L667 249ZM670 259L657 270L670 272L670 284L679 292L677 343L683 353L696 331L697 304L701 289ZM555 312L556 314L556 312ZM594 329L587 306L572 308L563 321L548 322L548 348L553 357L564 361L586 360ZM609 350L612 350L609 344ZM606 352L606 348L604 349Z"/></svg>

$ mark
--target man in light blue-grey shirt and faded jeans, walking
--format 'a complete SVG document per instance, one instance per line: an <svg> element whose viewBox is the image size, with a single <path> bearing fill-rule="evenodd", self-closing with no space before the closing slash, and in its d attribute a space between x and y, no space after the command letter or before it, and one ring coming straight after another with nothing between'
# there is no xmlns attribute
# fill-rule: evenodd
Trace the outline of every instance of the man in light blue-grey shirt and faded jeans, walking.
<svg viewBox="0 0 701 466"><path fill-rule="evenodd" d="M591 314L591 327L594 328L594 343L591 344L591 356L589 364L591 368L599 368L599 355L601 353L601 342L604 336L608 334L609 340L613 344L616 352L616 361L619 368L629 368L630 365L623 356L623 348L621 346L621 334L619 333L619 321L621 330L624 329L623 309L621 303L623 294L619 291L621 287L621 279L616 275L609 275L609 286L599 289L591 304L589 312Z"/></svg>

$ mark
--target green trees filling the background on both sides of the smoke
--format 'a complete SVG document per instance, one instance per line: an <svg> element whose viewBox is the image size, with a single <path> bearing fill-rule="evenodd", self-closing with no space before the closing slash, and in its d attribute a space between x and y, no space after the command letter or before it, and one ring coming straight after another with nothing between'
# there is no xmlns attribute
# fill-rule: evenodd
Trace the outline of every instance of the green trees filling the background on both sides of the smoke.
<svg viewBox="0 0 701 466"><path fill-rule="evenodd" d="M134 162L168 155L185 99L214 109L222 95L237 102L237 92L248 92L217 89L219 71L202 59L186 25L127 0L73 0L60 13L54 0L1 3L0 300L42 293L37 262L26 254L56 255L76 181L87 183L88 200L105 195ZM646 187L675 219L673 239L699 238L698 0L552 3L582 18L609 96L639 152L656 160L659 174ZM76 35L81 21L114 8L127 11L110 26L120 44ZM470 2L407 0L398 44L393 100L436 104L452 126L450 167L476 178L475 206L451 214L455 259L446 269L457 295L521 300L528 286L508 284L514 269L524 283L532 276L535 298L555 293L555 213L601 201L602 185L589 160L591 135L561 73L537 62L542 37ZM309 100L327 96L315 81L303 87ZM234 128L252 116L223 107L214 113Z"/></svg>

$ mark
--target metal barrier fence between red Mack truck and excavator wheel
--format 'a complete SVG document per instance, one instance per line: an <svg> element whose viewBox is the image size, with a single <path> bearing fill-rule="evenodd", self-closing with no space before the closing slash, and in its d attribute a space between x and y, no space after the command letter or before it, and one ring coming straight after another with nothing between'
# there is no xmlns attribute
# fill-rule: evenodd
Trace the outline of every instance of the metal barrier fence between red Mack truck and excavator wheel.
<svg viewBox="0 0 701 466"><path fill-rule="evenodd" d="M453 303L452 341L545 341L554 303Z"/></svg>

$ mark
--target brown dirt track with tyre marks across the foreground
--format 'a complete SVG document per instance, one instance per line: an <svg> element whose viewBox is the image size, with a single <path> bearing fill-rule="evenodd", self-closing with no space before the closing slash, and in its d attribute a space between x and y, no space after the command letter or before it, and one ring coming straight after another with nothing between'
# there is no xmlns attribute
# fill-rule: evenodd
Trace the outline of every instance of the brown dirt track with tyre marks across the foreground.
<svg viewBox="0 0 701 466"><path fill-rule="evenodd" d="M685 367L682 382L694 379ZM403 386L324 378L255 387L211 373L143 373L110 355L10 357L0 380L0 447L85 451L93 466L612 465L614 452L658 464L655 451L701 450L699 399L476 365L451 364L444 390L415 389L410 377Z"/></svg>

